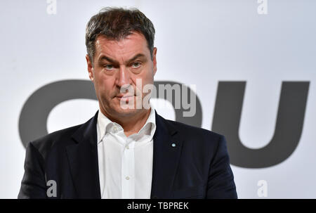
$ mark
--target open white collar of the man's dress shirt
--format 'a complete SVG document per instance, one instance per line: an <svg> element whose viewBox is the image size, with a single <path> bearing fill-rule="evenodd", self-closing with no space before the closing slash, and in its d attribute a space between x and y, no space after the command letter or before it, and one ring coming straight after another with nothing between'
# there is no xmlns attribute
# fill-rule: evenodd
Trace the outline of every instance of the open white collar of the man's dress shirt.
<svg viewBox="0 0 316 213"><path fill-rule="evenodd" d="M138 131L138 134L149 134L150 141L152 140L152 137L154 136L154 132L156 131L156 115L154 112L155 112L154 107L152 104L150 104L150 115L147 118L144 126L140 129L140 131ZM116 130L114 130L115 128ZM98 143L100 143L107 132L122 130L122 127L116 122L112 122L105 115L103 115L101 110L99 110L97 130L98 130Z"/></svg>

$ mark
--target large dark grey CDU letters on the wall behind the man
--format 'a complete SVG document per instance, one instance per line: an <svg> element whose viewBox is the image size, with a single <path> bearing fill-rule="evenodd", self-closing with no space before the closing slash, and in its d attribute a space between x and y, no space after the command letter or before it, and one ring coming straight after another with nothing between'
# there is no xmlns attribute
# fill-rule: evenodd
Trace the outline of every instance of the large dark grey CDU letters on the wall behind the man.
<svg viewBox="0 0 316 213"><path fill-rule="evenodd" d="M218 82L211 130L226 137L231 164L245 168L271 167L283 162L294 152L303 130L309 84L310 82L282 82L274 135L263 148L251 149L242 144L238 134L246 82ZM164 99L172 103L176 121L195 127L202 126L202 106L192 89L179 82L154 82L154 86L159 85L166 88L177 87L180 89L180 97L183 98L184 95L189 100L194 94L195 115L191 117L183 116L187 108L178 108L175 98ZM152 98L166 97L162 94L164 92L158 91ZM48 134L48 115L56 105L77 98L97 100L92 82L64 80L34 91L20 112L19 133L23 146L34 138Z"/></svg>

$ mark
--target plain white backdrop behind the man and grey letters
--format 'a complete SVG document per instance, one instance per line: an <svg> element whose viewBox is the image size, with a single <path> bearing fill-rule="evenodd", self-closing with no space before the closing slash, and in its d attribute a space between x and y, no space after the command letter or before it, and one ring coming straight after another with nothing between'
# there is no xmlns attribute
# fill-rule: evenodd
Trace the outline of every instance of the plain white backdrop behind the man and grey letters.
<svg viewBox="0 0 316 213"><path fill-rule="evenodd" d="M310 82L303 132L294 153L272 167L232 165L232 170L239 198L316 198L312 0L0 1L0 198L17 197L24 172L25 148L18 131L22 106L41 86L88 79L85 27L104 6L136 6L152 20L158 49L155 80L197 85L202 128L211 129L218 82L246 81L239 128L246 147L262 148L271 140L282 82ZM96 110L98 104L91 100L60 103L48 117L48 131L83 123ZM171 107L158 112L174 119ZM261 180L266 194L258 193Z"/></svg>

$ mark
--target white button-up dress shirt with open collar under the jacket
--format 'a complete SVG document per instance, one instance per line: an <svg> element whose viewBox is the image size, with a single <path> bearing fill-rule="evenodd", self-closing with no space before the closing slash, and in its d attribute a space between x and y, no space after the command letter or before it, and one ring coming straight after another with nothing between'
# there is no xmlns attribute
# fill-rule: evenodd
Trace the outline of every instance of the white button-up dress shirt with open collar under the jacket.
<svg viewBox="0 0 316 213"><path fill-rule="evenodd" d="M152 188L154 108L137 134L124 129L99 110L97 122L98 166L101 198L150 198Z"/></svg>

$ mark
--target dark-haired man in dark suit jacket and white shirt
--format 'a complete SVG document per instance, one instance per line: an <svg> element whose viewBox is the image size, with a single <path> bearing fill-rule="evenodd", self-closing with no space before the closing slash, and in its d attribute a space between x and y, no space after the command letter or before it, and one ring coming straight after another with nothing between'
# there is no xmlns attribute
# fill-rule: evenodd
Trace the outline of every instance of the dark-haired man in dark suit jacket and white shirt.
<svg viewBox="0 0 316 213"><path fill-rule="evenodd" d="M105 8L88 22L86 47L100 109L28 143L18 198L237 198L224 136L149 105L152 22L137 9Z"/></svg>

